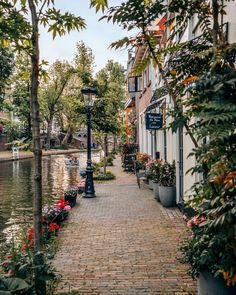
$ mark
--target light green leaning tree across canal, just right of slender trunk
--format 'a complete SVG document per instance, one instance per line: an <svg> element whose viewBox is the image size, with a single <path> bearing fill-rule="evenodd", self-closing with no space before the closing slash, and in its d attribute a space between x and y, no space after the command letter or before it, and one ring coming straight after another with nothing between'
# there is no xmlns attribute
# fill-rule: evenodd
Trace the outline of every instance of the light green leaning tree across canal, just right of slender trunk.
<svg viewBox="0 0 236 295"><path fill-rule="evenodd" d="M40 91L40 109L44 120L47 123L46 146L50 149L52 123L62 109L62 96L65 88L74 73L68 62L56 61L50 67L46 83Z"/></svg>

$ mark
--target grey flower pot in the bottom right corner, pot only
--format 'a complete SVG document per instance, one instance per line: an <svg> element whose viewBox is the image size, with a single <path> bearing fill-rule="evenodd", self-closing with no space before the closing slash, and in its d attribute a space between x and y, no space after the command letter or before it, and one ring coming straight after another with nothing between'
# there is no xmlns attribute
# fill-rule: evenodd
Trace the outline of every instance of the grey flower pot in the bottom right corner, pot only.
<svg viewBox="0 0 236 295"><path fill-rule="evenodd" d="M233 295L236 286L227 287L221 278L215 278L209 271L201 271L198 278L198 295Z"/></svg>

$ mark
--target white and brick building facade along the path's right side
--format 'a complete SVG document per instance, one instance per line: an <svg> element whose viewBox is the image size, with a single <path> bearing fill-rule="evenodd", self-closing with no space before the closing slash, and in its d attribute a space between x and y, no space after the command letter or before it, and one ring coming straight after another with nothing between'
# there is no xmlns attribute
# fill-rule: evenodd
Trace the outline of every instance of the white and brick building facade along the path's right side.
<svg viewBox="0 0 236 295"><path fill-rule="evenodd" d="M236 11L235 2L225 3L226 14L223 16L222 23L225 27L225 38L229 43L236 41L236 20L234 12ZM166 19L170 16L166 15L162 19L157 19L152 30L156 32L159 38L158 46L167 44L168 36L175 22L165 27ZM171 16L173 18L173 16ZM198 16L192 17L188 21L186 30L181 35L176 35L174 42L186 42L201 38L202 31L198 26ZM148 48L144 45L138 47L131 59L131 67L129 73L140 62L142 62L148 54ZM170 55L168 58L172 58ZM166 61L167 62L167 61ZM181 203L183 198L188 195L192 185L202 176L200 174L187 173L190 168L195 166L195 158L189 157L194 148L191 137L187 134L185 128L178 128L175 133L170 129L147 129L147 113L160 114L163 118L163 127L171 124L173 119L166 116L168 110L173 107L174 102L169 96L166 83L161 77L161 73L157 66L150 61L141 74L141 87L139 91L133 92L135 103L132 105L133 112L136 112L136 142L139 144L141 153L148 153L153 159L161 158L168 162L176 163L176 202ZM137 89L136 89L137 90Z"/></svg>

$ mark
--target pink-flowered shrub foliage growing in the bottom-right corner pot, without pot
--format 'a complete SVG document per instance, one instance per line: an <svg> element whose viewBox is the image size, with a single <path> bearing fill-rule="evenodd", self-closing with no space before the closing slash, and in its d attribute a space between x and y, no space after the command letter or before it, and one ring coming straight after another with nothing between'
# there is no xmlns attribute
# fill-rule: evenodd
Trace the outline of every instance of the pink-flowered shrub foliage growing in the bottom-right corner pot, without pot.
<svg viewBox="0 0 236 295"><path fill-rule="evenodd" d="M233 242L221 226L212 227L204 215L187 219L192 233L182 241L180 261L188 263L188 273L196 278L200 271L210 271L225 279L227 286L236 285L236 257Z"/></svg>

